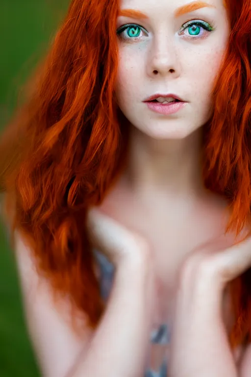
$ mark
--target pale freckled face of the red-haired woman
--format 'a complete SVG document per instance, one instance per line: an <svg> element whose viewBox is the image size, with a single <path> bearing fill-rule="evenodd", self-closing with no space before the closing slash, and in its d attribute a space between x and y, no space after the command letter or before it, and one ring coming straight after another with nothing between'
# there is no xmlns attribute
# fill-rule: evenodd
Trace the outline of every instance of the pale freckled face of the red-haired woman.
<svg viewBox="0 0 251 377"><path fill-rule="evenodd" d="M223 3L121 0L116 96L128 121L144 134L184 138L209 120L211 92L230 34ZM186 103L152 103L160 111L179 108L159 113L144 102L156 94L175 94Z"/></svg>

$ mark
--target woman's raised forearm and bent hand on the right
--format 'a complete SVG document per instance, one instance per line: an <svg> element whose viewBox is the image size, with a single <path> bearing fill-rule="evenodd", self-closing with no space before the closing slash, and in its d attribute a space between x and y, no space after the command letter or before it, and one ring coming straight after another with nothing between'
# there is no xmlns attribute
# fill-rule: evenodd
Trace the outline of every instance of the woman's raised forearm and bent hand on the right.
<svg viewBox="0 0 251 377"><path fill-rule="evenodd" d="M226 284L250 267L251 238L236 243L229 235L185 259L178 276L170 377L238 376L222 302Z"/></svg>

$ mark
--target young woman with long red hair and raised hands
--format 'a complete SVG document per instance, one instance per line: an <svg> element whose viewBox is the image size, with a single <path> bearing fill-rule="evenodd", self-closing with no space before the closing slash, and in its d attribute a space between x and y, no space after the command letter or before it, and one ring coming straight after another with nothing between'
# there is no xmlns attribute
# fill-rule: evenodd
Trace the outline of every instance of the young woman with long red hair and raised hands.
<svg viewBox="0 0 251 377"><path fill-rule="evenodd" d="M73 0L30 82L0 183L43 376L250 376L250 0Z"/></svg>

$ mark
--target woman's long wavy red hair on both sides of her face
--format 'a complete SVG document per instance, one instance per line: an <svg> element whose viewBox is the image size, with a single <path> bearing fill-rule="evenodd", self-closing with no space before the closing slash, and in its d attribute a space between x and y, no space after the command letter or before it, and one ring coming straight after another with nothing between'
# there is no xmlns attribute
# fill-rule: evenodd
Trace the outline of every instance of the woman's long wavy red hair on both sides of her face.
<svg viewBox="0 0 251 377"><path fill-rule="evenodd" d="M232 209L226 231L251 220L251 2L226 0L231 34L204 127L205 186ZM0 189L14 230L53 293L95 328L104 310L86 230L126 163L128 130L115 101L118 0L73 0L0 141ZM234 347L251 334L251 271L232 282Z"/></svg>

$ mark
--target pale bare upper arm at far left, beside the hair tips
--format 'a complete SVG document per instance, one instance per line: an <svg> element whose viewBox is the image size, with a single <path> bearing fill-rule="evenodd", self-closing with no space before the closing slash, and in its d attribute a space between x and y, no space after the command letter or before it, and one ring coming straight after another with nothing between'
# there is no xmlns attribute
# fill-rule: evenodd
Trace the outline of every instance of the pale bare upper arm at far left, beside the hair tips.
<svg viewBox="0 0 251 377"><path fill-rule="evenodd" d="M70 304L56 305L49 283L37 272L32 252L15 233L15 255L23 293L26 323L43 376L62 377L83 355L91 330L78 335L72 328ZM84 326L84 324L83 324Z"/></svg>

